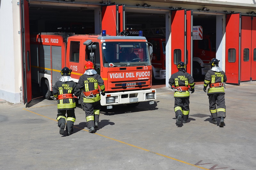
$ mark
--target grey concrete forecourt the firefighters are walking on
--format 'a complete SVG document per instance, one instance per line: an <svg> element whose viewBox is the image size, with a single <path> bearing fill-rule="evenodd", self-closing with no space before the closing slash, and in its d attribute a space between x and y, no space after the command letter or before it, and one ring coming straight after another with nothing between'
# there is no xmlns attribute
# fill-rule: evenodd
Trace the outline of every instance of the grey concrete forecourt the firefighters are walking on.
<svg viewBox="0 0 256 170"><path fill-rule="evenodd" d="M203 85L190 95L184 125L175 124L173 90L160 87L153 105L102 107L94 134L79 107L67 136L59 134L56 101L35 99L28 107L0 102L0 169L254 170L255 87L255 81L226 85L223 128L211 123Z"/></svg>

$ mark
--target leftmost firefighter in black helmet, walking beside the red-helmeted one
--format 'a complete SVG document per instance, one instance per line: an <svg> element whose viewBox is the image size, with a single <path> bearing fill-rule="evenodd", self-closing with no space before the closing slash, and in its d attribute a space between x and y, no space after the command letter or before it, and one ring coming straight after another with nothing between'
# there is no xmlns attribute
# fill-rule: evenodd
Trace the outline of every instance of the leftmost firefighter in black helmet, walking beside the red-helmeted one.
<svg viewBox="0 0 256 170"><path fill-rule="evenodd" d="M68 67L64 67L61 70L61 78L57 81L52 88L53 97L58 100L58 126L60 127L60 134L64 134L64 128L67 119L66 131L68 135L73 132L74 122L76 121L75 108L76 102L74 100L73 94L78 97L80 90L76 83L70 77L72 70ZM66 118L67 113L67 118Z"/></svg>

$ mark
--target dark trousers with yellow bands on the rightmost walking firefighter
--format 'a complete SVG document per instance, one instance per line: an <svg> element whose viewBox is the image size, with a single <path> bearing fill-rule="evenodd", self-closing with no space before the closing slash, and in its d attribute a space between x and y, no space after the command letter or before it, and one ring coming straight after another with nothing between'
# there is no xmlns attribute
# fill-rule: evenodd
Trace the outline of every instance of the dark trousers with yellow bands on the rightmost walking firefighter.
<svg viewBox="0 0 256 170"><path fill-rule="evenodd" d="M225 94L215 93L209 94L209 108L212 118L226 117Z"/></svg>

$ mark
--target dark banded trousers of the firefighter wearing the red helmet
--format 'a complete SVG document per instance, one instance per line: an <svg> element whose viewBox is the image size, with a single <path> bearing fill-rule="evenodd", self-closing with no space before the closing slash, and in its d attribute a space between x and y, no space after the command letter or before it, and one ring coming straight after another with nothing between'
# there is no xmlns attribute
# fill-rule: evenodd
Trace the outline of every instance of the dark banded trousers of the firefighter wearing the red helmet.
<svg viewBox="0 0 256 170"><path fill-rule="evenodd" d="M95 121L100 120L100 100L93 103L84 103L87 128L95 127Z"/></svg>

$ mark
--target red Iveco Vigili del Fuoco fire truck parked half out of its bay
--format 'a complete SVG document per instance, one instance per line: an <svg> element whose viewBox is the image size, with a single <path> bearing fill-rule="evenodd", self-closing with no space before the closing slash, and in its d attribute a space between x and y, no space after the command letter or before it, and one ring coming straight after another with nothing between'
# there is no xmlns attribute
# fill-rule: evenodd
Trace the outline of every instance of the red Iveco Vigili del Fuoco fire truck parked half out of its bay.
<svg viewBox="0 0 256 170"><path fill-rule="evenodd" d="M145 37L40 33L31 36L30 42L32 81L39 83L46 99L64 66L72 69L71 77L78 82L85 63L92 61L106 88L106 95L101 96L102 106L136 107L139 102L153 104L156 100L156 90L151 89L152 46ZM139 58L123 61L120 54L131 47Z"/></svg>

